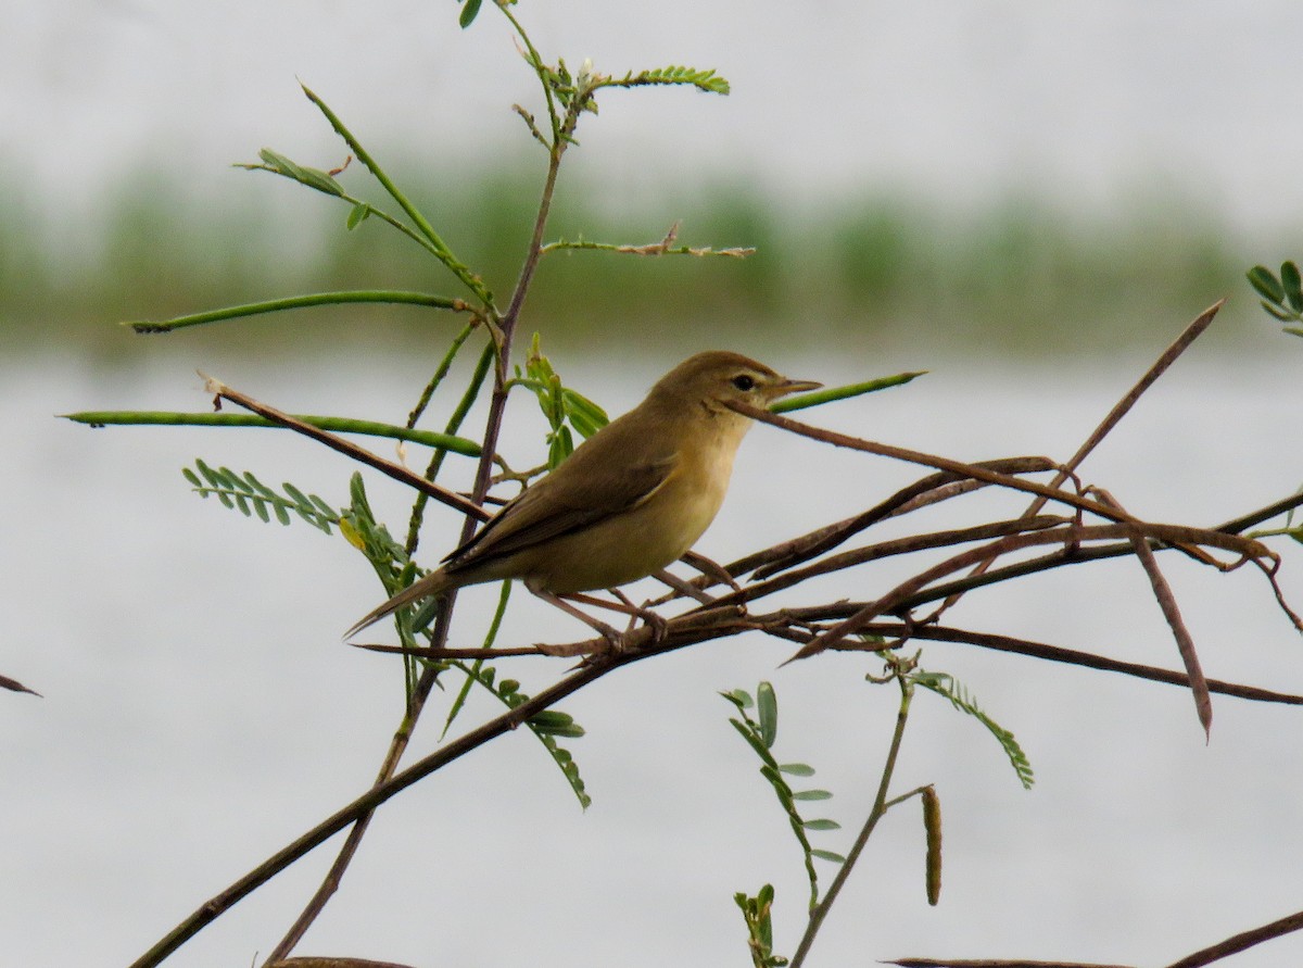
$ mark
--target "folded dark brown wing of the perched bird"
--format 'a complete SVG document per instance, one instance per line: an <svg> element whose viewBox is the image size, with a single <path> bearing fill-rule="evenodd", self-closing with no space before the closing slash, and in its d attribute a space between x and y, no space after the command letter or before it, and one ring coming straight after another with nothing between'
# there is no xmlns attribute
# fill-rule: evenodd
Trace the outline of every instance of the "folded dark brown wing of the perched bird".
<svg viewBox="0 0 1303 968"><path fill-rule="evenodd" d="M515 554L637 507L665 487L679 466L678 455L670 453L625 467L612 480L610 474L590 475L595 468L577 459L580 457L576 450L560 467L506 505L474 537L444 558L447 569L455 573Z"/></svg>

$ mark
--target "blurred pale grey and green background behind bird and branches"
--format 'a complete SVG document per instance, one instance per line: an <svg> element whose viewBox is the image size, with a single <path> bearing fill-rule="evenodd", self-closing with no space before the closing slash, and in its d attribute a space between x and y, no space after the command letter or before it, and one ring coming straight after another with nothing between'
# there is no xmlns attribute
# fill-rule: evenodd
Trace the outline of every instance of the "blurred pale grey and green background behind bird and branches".
<svg viewBox="0 0 1303 968"><path fill-rule="evenodd" d="M1303 256L1298 5L666 0L612 13L526 0L517 13L572 68L689 64L732 82L727 98L609 91L567 155L549 237L645 244L679 223L692 245L758 249L545 261L523 337L542 331L567 382L612 412L687 354L728 346L829 384L930 371L816 423L962 459L1062 459L1186 322L1230 297L1085 470L1138 514L1200 524L1298 485L1303 343L1243 280ZM364 789L400 716L396 665L339 644L379 596L361 558L337 536L202 504L179 474L202 457L343 505L351 467L275 433L51 419L205 410L202 369L284 410L401 423L443 355L446 317L349 308L151 338L116 325L328 288L461 295L377 219L348 232L347 206L231 167L261 147L344 163L300 81L508 292L543 154L511 111L541 106L496 10L461 31L447 0L17 0L0 31L0 673L44 694L0 694L0 947L13 964L130 961ZM383 200L356 162L341 179ZM431 425L456 399L444 393ZM528 402L519 415L507 449L529 466L542 423ZM455 484L468 475L450 468ZM761 428L698 549L737 557L913 476ZM405 494L369 481L400 530ZM919 527L1020 510L997 506ZM456 528L431 518L431 561ZM810 594L868 597L893 567ZM1170 570L1210 676L1303 691L1298 635L1261 582ZM1134 564L1080 571L966 603L956 621L1177 664ZM464 605L468 642L491 600ZM525 596L504 631L575 634ZM838 794L827 814L848 824L872 797L894 701L863 682L876 672L863 660L777 671L786 658L744 638L567 703L589 729L571 744L586 813L526 736L410 791L300 952L745 964L731 895L773 881L791 954L799 857L715 691L771 678L780 758L816 764ZM921 697L900 789L941 791L942 904L924 901L907 808L880 828L813 963L1164 964L1303 908L1289 710L1214 699L1205 746L1182 690L959 647L929 646L924 664L1018 734L1040 783L1024 793L979 725ZM537 689L556 668L511 674ZM318 852L172 963L248 964L327 864ZM1234 964L1300 952L1278 941Z"/></svg>

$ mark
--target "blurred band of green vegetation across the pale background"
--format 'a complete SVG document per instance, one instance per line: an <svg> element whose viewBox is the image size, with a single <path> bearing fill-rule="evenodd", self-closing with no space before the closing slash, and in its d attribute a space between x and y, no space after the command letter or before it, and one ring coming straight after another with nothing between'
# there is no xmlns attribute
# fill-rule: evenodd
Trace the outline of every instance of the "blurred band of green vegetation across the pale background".
<svg viewBox="0 0 1303 968"><path fill-rule="evenodd" d="M450 184L414 166L400 175L409 189L418 187L414 201L457 256L495 291L509 291L538 177L483 174ZM317 290L463 295L450 278L431 278L423 253L375 220L349 232L344 206L301 194L268 210L253 201L266 197L262 187L250 196L248 204L188 197L177 179L142 175L111 194L96 224L63 234L31 207L10 207L0 222L0 348L21 354L55 343L128 354L130 338L112 325L119 320ZM546 331L552 346L657 346L709 326L722 340L745 333L833 338L850 348L908 340L1057 354L1080 346L1085 331L1084 342L1095 346L1152 342L1151 334L1171 331L1174 318L1238 292L1247 262L1216 219L1175 202L1070 217L1048 204L1006 200L954 215L919 200L865 196L794 214L739 183L654 196L623 204L610 187L563 180L547 239L648 244L680 222L680 243L757 253L555 252L530 295L529 329ZM349 307L237 325L241 344L302 354L374 344L380 320L387 346L418 346L431 318L440 317ZM236 338L215 330L202 338Z"/></svg>

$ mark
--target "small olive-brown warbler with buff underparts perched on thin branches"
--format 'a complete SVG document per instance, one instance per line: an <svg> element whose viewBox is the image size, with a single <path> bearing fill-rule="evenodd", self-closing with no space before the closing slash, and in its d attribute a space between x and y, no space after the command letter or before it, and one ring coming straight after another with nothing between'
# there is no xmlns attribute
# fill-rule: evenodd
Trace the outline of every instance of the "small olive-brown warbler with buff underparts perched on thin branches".
<svg viewBox="0 0 1303 968"><path fill-rule="evenodd" d="M614 643L618 633L558 596L615 588L679 560L719 511L734 454L754 423L727 404L764 408L820 386L734 352L684 360L345 638L422 599L519 578Z"/></svg>

